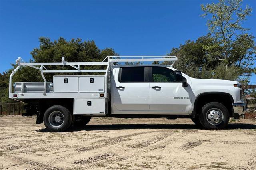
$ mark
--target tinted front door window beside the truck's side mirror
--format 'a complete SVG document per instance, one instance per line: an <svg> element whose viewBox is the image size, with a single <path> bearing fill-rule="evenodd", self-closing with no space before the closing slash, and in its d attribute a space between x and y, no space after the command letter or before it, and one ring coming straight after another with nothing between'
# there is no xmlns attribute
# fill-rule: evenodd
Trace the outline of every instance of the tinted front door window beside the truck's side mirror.
<svg viewBox="0 0 256 170"><path fill-rule="evenodd" d="M165 67L152 67L153 82L178 82L174 71Z"/></svg>

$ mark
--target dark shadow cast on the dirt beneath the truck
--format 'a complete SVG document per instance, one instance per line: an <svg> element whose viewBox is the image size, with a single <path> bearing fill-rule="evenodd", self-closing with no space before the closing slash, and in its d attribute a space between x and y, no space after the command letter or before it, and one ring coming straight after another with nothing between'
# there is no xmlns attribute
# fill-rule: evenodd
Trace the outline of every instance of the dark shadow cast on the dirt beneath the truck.
<svg viewBox="0 0 256 170"><path fill-rule="evenodd" d="M203 130L194 124L112 124L112 125L85 125L83 127L70 127L66 132L76 131L98 131L98 130L124 130L124 129L186 129ZM232 123L224 130L256 129L254 124ZM35 132L49 132L46 128L35 130Z"/></svg>

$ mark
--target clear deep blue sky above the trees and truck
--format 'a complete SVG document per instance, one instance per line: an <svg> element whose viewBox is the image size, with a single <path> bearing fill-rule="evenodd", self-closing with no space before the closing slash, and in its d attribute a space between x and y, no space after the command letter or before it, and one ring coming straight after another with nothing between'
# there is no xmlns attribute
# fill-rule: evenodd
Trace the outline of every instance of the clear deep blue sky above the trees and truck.
<svg viewBox="0 0 256 170"><path fill-rule="evenodd" d="M216 0L0 0L0 72L29 61L38 38L95 40L120 55L166 55L208 32L200 4ZM243 24L256 36L256 1ZM256 82L256 76L251 81Z"/></svg>

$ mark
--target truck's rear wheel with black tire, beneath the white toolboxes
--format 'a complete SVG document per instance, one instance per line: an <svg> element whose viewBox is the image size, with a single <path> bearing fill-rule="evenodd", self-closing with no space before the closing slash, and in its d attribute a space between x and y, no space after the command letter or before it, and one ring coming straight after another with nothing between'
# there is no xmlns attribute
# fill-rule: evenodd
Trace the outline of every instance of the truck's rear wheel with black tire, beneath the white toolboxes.
<svg viewBox="0 0 256 170"><path fill-rule="evenodd" d="M56 117L59 122L56 121ZM71 124L72 115L66 107L55 105L44 113L44 125L50 132L64 132Z"/></svg>

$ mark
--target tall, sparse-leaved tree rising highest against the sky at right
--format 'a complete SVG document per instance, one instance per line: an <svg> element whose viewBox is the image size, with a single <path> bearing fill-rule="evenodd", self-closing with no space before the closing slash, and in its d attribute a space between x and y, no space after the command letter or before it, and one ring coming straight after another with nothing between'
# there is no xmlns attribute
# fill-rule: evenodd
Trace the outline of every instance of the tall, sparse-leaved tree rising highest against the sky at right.
<svg viewBox="0 0 256 170"><path fill-rule="evenodd" d="M201 5L203 17L207 17L207 26L216 43L204 46L207 57L221 61L228 66L237 67L240 75L250 76L255 73L256 54L254 36L248 34L249 28L242 27L242 22L252 12L246 6L242 9L242 0L220 0L218 3ZM208 59L208 60L210 60Z"/></svg>

